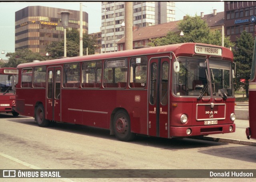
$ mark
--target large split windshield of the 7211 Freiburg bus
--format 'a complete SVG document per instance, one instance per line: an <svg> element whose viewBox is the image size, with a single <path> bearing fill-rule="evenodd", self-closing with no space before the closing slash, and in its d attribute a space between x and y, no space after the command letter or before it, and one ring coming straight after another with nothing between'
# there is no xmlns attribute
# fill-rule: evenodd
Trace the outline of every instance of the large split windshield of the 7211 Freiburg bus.
<svg viewBox="0 0 256 182"><path fill-rule="evenodd" d="M176 96L231 97L231 63L225 61L178 57L180 70L174 72L173 92Z"/></svg>

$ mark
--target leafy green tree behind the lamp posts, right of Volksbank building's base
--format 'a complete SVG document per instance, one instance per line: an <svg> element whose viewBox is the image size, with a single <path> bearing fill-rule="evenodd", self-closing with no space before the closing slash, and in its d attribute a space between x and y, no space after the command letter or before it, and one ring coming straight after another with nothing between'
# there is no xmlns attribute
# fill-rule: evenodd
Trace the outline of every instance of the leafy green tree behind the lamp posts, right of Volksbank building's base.
<svg viewBox="0 0 256 182"><path fill-rule="evenodd" d="M68 30L67 38L67 57L79 56L79 38L80 33L77 29ZM88 54L94 54L96 40L91 38L88 34L83 34L83 55L86 55L86 48L88 47ZM46 51L50 54L50 59L62 57L64 55L64 40L61 42L52 42L46 45Z"/></svg>

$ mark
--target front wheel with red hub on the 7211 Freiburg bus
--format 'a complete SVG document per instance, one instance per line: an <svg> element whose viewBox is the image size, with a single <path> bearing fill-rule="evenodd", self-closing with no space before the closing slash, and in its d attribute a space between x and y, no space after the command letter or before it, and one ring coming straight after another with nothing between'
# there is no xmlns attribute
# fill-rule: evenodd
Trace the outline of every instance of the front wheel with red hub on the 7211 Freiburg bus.
<svg viewBox="0 0 256 182"><path fill-rule="evenodd" d="M135 138L135 133L131 132L130 118L125 111L120 110L115 114L113 124L118 140L130 141Z"/></svg>

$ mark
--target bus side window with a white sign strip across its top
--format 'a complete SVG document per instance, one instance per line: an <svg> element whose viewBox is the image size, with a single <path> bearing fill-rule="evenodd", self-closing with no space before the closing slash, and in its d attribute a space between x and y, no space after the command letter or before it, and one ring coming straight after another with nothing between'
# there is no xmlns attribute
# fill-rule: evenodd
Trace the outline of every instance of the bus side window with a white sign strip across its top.
<svg viewBox="0 0 256 182"><path fill-rule="evenodd" d="M127 60L109 60L104 63L104 88L125 88Z"/></svg>

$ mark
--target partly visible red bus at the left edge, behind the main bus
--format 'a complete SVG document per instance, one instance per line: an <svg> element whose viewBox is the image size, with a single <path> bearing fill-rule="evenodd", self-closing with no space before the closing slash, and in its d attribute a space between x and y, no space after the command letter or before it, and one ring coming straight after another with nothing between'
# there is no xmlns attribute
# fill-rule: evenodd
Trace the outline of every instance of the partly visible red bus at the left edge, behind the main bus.
<svg viewBox="0 0 256 182"><path fill-rule="evenodd" d="M15 85L18 81L17 69L12 67L0 68L0 112L12 113L15 111Z"/></svg>

